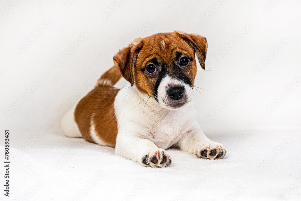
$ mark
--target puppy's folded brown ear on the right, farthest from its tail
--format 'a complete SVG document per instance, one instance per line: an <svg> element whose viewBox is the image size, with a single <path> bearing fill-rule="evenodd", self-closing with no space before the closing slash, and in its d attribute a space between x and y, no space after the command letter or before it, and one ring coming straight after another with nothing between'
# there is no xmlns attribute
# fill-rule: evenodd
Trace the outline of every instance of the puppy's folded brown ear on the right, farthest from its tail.
<svg viewBox="0 0 301 201"><path fill-rule="evenodd" d="M195 50L197 59L199 60L201 67L205 70L205 59L207 53L206 38L195 33L185 33L183 31L175 32L178 33L178 35Z"/></svg>

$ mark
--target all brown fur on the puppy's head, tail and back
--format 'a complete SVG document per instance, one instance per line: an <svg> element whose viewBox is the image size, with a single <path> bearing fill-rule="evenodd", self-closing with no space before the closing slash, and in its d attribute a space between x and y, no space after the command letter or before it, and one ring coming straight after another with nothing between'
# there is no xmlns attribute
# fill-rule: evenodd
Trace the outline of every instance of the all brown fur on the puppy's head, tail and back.
<svg viewBox="0 0 301 201"><path fill-rule="evenodd" d="M135 84L141 93L154 98L157 93L155 85L158 75L148 74L145 71L147 64L156 62L157 66L164 67L169 75L176 77L180 73L189 80L191 85L194 85L194 78L197 74L194 55L197 54L201 67L205 69L206 50L206 38L197 34L177 31L158 33L143 39L138 38L129 46L120 49L113 57L117 68L112 67L105 72L98 80L95 89L80 100L76 106L74 116L82 137L94 142L90 136L91 120L93 120L98 137L107 145L115 147L118 130L114 100L119 89L113 85L121 75L132 86ZM185 55L191 60L185 68L175 67L179 54Z"/></svg>

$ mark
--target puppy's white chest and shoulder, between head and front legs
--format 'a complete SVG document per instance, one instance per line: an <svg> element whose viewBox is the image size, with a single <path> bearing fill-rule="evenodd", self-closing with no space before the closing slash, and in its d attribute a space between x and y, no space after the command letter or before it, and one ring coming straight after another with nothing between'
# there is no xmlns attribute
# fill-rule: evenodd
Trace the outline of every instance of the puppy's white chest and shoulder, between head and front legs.
<svg viewBox="0 0 301 201"><path fill-rule="evenodd" d="M177 143L191 126L195 115L192 105L189 103L177 110L168 110L154 99L143 102L143 98L132 87L119 91L114 105L118 133L137 134L162 149Z"/></svg>

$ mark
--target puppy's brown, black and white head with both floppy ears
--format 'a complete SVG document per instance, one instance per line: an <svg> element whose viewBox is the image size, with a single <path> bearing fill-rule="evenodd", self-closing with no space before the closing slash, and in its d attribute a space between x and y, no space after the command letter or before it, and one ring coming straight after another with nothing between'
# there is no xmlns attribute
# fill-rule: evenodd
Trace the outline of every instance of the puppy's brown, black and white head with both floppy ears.
<svg viewBox="0 0 301 201"><path fill-rule="evenodd" d="M135 39L113 57L123 77L163 108L174 110L192 100L197 74L195 55L205 69L206 38L182 31Z"/></svg>

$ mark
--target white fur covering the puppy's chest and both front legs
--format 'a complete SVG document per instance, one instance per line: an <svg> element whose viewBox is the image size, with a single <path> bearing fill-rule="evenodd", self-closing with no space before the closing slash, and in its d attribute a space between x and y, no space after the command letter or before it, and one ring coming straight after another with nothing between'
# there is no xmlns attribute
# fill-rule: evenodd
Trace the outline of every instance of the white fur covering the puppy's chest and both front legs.
<svg viewBox="0 0 301 201"><path fill-rule="evenodd" d="M165 81L161 84L166 84ZM216 146L222 148L221 144L209 140L201 130L194 118L196 111L191 101L181 108L170 110L163 108L154 98L145 97L135 85L130 87L128 84L115 98L117 155L144 165L142 158L158 148L178 146L191 153L200 152L208 146L210 149Z"/></svg>

